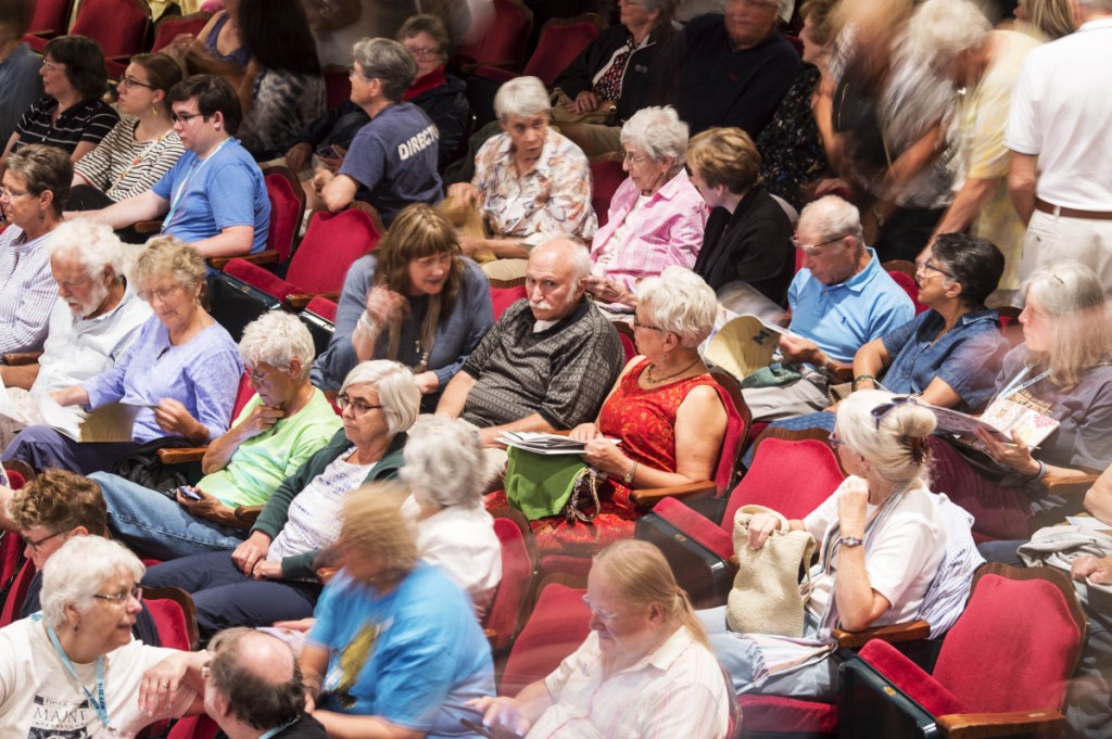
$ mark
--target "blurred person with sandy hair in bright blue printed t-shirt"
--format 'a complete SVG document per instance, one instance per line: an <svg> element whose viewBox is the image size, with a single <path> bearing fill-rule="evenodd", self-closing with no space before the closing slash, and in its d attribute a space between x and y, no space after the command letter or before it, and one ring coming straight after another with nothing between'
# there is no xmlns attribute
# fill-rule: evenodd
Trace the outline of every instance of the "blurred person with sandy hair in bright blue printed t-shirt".
<svg viewBox="0 0 1112 739"><path fill-rule="evenodd" d="M325 588L300 665L330 737L471 736L464 702L494 692L490 648L459 588L418 561L397 499L344 503L342 569Z"/></svg>

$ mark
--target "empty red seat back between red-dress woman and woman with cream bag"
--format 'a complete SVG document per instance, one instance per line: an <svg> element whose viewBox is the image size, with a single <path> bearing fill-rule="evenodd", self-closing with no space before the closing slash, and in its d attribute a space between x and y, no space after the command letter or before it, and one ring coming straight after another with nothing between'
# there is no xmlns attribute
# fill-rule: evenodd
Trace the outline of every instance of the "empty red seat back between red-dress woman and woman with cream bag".
<svg viewBox="0 0 1112 739"><path fill-rule="evenodd" d="M729 493L722 528L733 532L734 515L742 506L765 506L787 518L803 518L844 479L834 452L822 441L765 439L749 471Z"/></svg>

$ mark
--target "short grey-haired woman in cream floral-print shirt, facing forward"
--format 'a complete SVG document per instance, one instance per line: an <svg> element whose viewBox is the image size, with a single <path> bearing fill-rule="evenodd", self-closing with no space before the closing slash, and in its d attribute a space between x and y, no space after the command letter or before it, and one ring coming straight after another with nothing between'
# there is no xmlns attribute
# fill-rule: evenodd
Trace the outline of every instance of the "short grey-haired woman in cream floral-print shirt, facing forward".
<svg viewBox="0 0 1112 739"><path fill-rule="evenodd" d="M548 130L548 92L535 77L518 77L494 99L503 133L475 157L475 178L448 188L475 203L494 236L460 240L464 253L492 252L513 262L484 269L499 279L525 273L534 247L557 236L584 242L598 226L590 207L590 168L577 146Z"/></svg>

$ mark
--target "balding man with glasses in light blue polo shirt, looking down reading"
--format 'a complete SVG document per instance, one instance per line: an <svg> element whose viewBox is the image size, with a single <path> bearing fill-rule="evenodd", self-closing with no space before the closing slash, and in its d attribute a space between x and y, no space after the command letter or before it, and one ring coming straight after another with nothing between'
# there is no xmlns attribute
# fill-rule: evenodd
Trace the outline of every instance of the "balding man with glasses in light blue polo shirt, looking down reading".
<svg viewBox="0 0 1112 739"><path fill-rule="evenodd" d="M787 290L793 336L781 337L780 353L797 364L802 377L743 390L754 419L826 408L833 373L851 367L862 344L915 316L911 298L865 246L861 213L845 200L827 196L804 208L795 246L803 251L803 269Z"/></svg>

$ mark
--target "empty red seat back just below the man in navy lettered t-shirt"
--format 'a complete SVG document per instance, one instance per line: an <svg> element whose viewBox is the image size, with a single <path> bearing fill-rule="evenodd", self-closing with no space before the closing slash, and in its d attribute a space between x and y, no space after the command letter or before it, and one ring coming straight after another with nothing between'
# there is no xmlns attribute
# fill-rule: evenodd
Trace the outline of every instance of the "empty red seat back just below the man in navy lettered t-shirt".
<svg viewBox="0 0 1112 739"><path fill-rule="evenodd" d="M361 210L318 212L289 262L286 279L301 292L339 291L348 268L378 246L380 234Z"/></svg>

